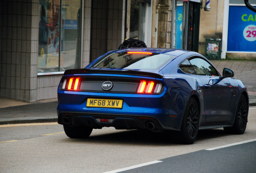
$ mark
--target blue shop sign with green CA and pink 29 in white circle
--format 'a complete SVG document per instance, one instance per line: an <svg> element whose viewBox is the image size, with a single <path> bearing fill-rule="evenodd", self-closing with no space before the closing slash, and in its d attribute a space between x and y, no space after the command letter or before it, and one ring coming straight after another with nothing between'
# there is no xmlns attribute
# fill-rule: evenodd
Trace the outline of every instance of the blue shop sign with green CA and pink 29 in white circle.
<svg viewBox="0 0 256 173"><path fill-rule="evenodd" d="M256 13L246 6L229 6L227 51L256 52Z"/></svg>

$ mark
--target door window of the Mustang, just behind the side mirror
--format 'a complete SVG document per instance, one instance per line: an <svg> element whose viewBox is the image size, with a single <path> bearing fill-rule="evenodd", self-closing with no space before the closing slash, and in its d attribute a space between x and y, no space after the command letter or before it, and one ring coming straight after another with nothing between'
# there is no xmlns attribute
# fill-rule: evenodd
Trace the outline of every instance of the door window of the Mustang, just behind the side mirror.
<svg viewBox="0 0 256 173"><path fill-rule="evenodd" d="M196 74L205 75L205 76L211 76L211 75L218 76L218 72L215 70L215 68L204 59L193 58L189 61L194 67Z"/></svg>

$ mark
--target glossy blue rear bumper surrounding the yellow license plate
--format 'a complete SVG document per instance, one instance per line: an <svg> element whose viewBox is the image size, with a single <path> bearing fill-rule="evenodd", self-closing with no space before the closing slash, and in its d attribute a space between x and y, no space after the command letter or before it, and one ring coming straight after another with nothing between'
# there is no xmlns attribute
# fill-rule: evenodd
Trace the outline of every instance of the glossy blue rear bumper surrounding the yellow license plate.
<svg viewBox="0 0 256 173"><path fill-rule="evenodd" d="M102 127L145 129L145 123L152 121L158 129L178 130L182 122L183 109L181 105L184 104L174 100L173 98L176 98L175 95L175 93L170 95L170 93L166 91L163 91L163 93L159 95L146 95L74 92L60 91L58 89L58 122L63 124L62 115L64 113L72 113L68 118L71 120L70 125L74 126L81 125L79 121L83 119L83 121L85 121L83 122L84 125L90 125L95 129ZM88 98L122 99L122 109L87 107ZM76 121L75 117L78 115L81 117L79 121ZM91 117L93 117L93 119ZM152 120L138 119L138 117L149 117L152 118ZM114 121L111 123L101 123L96 121L96 119L113 119ZM126 121L130 123L126 123ZM88 122L90 122L90 124ZM124 126L122 124L126 125Z"/></svg>

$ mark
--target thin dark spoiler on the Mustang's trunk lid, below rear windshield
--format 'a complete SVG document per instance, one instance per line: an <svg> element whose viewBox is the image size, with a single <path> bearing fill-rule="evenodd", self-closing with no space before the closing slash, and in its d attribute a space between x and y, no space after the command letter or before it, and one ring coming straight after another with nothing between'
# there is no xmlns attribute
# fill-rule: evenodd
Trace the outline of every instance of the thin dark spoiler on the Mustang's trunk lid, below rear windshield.
<svg viewBox="0 0 256 173"><path fill-rule="evenodd" d="M146 76L153 78L163 78L162 75L154 73L154 72L144 72L137 70L98 70L98 69L89 69L89 68L81 68L81 69L70 69L64 72L65 74L87 74L87 73L97 73L97 74L125 74L125 75L135 75L135 76Z"/></svg>

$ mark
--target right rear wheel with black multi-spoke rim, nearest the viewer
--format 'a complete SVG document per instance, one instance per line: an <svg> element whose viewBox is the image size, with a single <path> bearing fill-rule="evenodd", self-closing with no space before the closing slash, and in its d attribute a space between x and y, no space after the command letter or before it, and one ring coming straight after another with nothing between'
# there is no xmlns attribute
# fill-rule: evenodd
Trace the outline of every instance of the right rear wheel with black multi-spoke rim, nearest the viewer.
<svg viewBox="0 0 256 173"><path fill-rule="evenodd" d="M188 101L180 129L182 143L192 144L196 140L198 135L199 113L200 111L196 100L191 98Z"/></svg>

